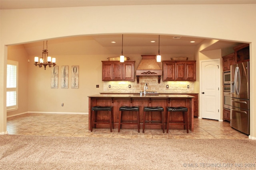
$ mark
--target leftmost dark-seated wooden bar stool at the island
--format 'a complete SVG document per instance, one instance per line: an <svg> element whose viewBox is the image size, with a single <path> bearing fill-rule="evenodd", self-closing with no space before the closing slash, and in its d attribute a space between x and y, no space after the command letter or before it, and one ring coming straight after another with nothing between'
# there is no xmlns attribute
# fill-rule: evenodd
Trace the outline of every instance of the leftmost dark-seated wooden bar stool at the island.
<svg viewBox="0 0 256 170"><path fill-rule="evenodd" d="M109 111L109 120L97 120L97 112L98 111ZM91 117L91 132L94 125L96 128L97 124L109 124L110 125L110 132L112 132L112 127L114 129L114 115L113 115L113 106L94 106L92 107L92 117Z"/></svg>

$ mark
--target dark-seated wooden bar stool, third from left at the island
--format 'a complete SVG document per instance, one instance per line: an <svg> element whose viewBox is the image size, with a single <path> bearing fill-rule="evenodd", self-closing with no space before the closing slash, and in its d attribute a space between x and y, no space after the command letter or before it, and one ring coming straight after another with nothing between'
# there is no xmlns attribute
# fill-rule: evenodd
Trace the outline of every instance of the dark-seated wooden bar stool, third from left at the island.
<svg viewBox="0 0 256 170"><path fill-rule="evenodd" d="M146 113L148 113L149 111L153 111L153 112L161 112L161 120L160 121L150 121L148 120L147 123L145 123L146 121ZM143 133L145 130L145 125L162 125L162 129L163 129L163 133L164 133L164 108L160 107L160 106L156 106L156 107L144 107L144 116L143 116Z"/></svg>

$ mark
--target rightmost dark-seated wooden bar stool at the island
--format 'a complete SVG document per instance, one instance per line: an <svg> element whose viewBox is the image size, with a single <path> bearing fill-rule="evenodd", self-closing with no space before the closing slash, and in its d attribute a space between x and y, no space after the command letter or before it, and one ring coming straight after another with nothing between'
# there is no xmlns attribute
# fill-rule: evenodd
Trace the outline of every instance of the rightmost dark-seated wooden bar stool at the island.
<svg viewBox="0 0 256 170"><path fill-rule="evenodd" d="M166 107L167 109L167 127L166 133L169 131L169 124L171 125L184 125L184 129L186 127L188 133L188 108L187 107ZM174 111L182 111L183 121L170 121L170 113Z"/></svg>

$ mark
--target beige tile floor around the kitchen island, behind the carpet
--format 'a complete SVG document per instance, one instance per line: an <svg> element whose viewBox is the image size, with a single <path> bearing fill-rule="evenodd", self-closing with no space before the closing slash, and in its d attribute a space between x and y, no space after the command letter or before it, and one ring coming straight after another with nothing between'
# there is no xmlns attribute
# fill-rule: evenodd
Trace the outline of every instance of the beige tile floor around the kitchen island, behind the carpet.
<svg viewBox="0 0 256 170"><path fill-rule="evenodd" d="M142 126L141 126L142 128ZM153 139L248 139L248 136L232 129L227 121L194 119L194 132L183 129L109 129L88 131L88 115L26 113L7 118L7 131L11 135L43 135L65 137L112 137Z"/></svg>

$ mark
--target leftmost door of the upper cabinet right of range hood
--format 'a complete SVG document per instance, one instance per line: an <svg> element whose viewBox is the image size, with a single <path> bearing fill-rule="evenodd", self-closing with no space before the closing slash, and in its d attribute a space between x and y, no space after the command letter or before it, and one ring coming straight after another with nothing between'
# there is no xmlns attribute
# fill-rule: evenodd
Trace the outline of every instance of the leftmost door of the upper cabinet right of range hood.
<svg viewBox="0 0 256 170"><path fill-rule="evenodd" d="M163 63L163 81L175 80L175 63L165 62Z"/></svg>

